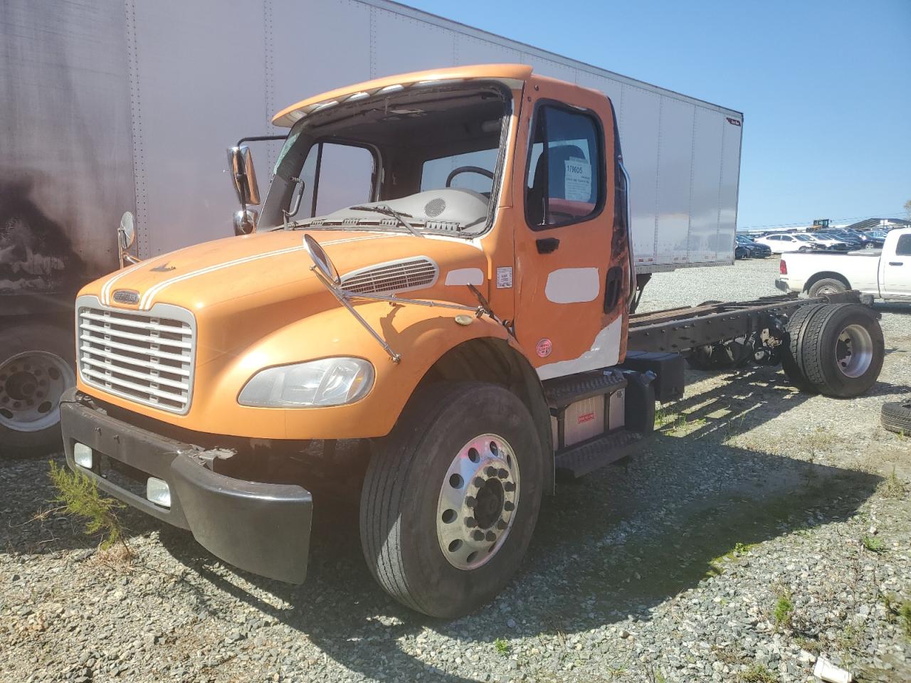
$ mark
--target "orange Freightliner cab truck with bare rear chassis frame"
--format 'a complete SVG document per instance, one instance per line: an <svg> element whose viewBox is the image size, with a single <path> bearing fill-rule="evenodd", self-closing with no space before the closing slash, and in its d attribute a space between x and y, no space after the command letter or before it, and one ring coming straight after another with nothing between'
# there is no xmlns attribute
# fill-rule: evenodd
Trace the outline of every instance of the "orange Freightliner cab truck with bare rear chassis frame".
<svg viewBox="0 0 911 683"><path fill-rule="evenodd" d="M71 467L233 565L302 581L309 491L350 480L379 584L466 614L516 571L556 474L647 437L681 352L783 362L834 396L878 375L855 293L630 313L630 188L599 91L455 67L274 122L290 131L261 209L249 148L230 149L243 234L79 292L61 407ZM327 197L330 162L352 182Z"/></svg>

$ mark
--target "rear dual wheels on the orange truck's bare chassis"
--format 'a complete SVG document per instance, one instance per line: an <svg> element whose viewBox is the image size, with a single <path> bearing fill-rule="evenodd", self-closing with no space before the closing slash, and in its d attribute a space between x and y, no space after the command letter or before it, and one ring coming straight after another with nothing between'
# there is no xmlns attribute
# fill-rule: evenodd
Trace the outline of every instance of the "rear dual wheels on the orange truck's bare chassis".
<svg viewBox="0 0 911 683"><path fill-rule="evenodd" d="M785 354L785 359L799 370L803 381L812 387L810 391L834 398L867 392L879 377L885 357L883 331L875 314L858 303L825 304L813 309L796 339L792 338L790 357ZM790 372L788 376L792 376Z"/></svg>

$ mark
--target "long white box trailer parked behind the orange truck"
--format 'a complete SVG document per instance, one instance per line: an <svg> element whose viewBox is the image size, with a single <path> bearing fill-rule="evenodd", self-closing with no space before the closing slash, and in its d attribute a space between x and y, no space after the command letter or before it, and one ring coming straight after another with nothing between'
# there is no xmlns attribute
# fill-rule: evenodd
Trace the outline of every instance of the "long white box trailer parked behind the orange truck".
<svg viewBox="0 0 911 683"><path fill-rule="evenodd" d="M117 267L120 215L142 258L230 235L225 148L343 84L518 62L596 88L618 112L638 272L733 260L741 113L405 5L5 0L0 43L0 374L26 359L59 375L27 405L0 384L7 448L56 443L72 342L42 326L68 330L75 291ZM262 176L281 143L259 145Z"/></svg>

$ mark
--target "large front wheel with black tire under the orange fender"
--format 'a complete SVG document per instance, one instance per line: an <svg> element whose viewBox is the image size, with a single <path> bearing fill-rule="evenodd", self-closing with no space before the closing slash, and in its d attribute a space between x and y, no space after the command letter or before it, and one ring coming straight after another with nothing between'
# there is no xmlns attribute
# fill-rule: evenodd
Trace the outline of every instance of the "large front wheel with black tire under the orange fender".
<svg viewBox="0 0 911 683"><path fill-rule="evenodd" d="M363 555L390 596L432 617L452 618L485 605L507 585L525 555L541 505L544 458L536 434L525 404L501 386L440 382L415 392L393 431L376 443L361 496ZM488 439L500 446L469 448ZM501 464L491 460L497 454ZM466 466L461 483L450 474L460 464ZM474 467L480 469L469 474ZM459 500L469 506L440 514L443 508L460 507ZM490 500L494 505L486 505ZM494 515L497 500L500 511ZM469 510L477 520L466 516ZM493 516L496 520L487 525ZM505 527L498 526L501 522ZM475 539L477 532L485 538ZM459 537L444 549L447 534ZM474 558L461 556L482 540L489 542L489 556L486 550ZM458 552L447 556L452 547Z"/></svg>

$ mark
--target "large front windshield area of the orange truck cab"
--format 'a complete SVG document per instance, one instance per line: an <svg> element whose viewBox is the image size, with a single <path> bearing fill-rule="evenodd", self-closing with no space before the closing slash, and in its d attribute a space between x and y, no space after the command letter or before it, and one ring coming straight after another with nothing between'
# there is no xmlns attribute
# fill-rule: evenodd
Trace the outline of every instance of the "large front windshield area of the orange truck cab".
<svg viewBox="0 0 911 683"><path fill-rule="evenodd" d="M302 118L281 149L261 226L476 236L493 218L509 93L405 87Z"/></svg>

